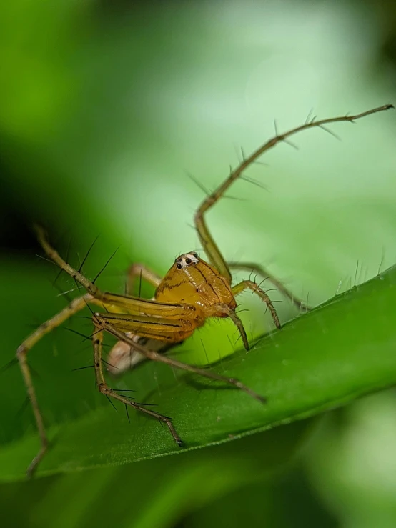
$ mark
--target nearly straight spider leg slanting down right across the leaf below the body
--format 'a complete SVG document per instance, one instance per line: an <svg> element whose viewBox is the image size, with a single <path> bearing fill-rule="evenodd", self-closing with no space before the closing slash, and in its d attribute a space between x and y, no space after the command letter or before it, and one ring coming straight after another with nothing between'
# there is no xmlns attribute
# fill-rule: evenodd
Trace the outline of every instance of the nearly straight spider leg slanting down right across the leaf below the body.
<svg viewBox="0 0 396 528"><path fill-rule="evenodd" d="M119 322L117 324L117 319L110 319L110 314L95 314L94 315L94 324L98 329L106 330L109 332L109 334L114 335L117 337L120 341L124 341L128 344L130 344L132 347L134 347L140 354L147 357L147 359L152 359L152 361L157 361L161 363L166 363L171 367L176 367L177 369L187 370L189 372L194 372L194 374L199 374L200 376L204 376L210 379L216 379L219 382L224 382L227 384L231 384L234 387L237 387L238 389L242 390L243 392L246 392L249 394L249 396L253 397L254 399L257 399L259 402L265 402L266 399L256 392L252 391L252 389L249 389L246 385L239 382L239 380L235 378L227 378L225 376L220 376L219 374L215 374L214 372L211 372L209 370L205 369L199 369L198 367L194 367L193 365L189 365L187 363L178 362L176 359L172 359L170 357L164 356L162 354L159 354L158 352L154 352L154 350L147 349L146 347L142 347L139 343L134 343L132 339L130 339L126 334L125 330L129 332L130 327L124 327L124 323L126 323L126 320L124 319L122 322ZM114 314L115 315L115 314ZM115 323L115 324L114 324ZM174 323L172 321L172 323ZM141 333L142 332L142 322L139 323L140 327L134 329L134 333ZM117 325L117 326L116 326ZM177 331L177 330L176 330ZM175 332L176 332L175 331ZM161 332L161 329L157 327L158 334ZM170 331L172 332L172 330ZM169 327L167 327L166 330L164 330L164 334L169 335Z"/></svg>

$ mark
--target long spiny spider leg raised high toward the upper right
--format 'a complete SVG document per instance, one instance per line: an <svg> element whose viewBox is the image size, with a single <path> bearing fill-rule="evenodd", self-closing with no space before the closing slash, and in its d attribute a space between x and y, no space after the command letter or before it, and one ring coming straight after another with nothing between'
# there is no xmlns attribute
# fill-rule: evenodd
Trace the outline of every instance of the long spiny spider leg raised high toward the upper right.
<svg viewBox="0 0 396 528"><path fill-rule="evenodd" d="M370 114L375 114L380 111L385 111L390 108L393 108L392 104L385 104L384 106L379 106L378 108L367 110L355 116L347 115L347 116L340 116L340 117L332 117L330 119L322 119L320 121L315 121L315 120L307 121L305 124L301 126L297 126L296 128L289 130L285 132L284 134L277 134L276 136L272 137L272 139L269 139L266 143L260 146L256 151L250 154L250 156L248 156L247 158L244 158L242 162L237 166L236 169L230 170L229 176L227 177L227 179L225 179L222 182L222 184L219 185L217 189L215 189L212 192L212 194L209 194L204 199L204 201L202 201L202 204L199 206L199 208L197 209L194 215L194 222L195 222L195 227L198 231L199 240L201 241L202 247L209 258L210 264L212 264L212 266L217 268L220 274L222 274L222 276L225 279L227 279L229 284L231 284L231 273L229 272L229 266L227 262L224 260L224 257L222 256L219 250L219 247L214 241L212 234L210 234L210 231L204 219L204 214L212 206L214 206L214 204L222 196L224 196L225 192L227 192L227 190L234 183L234 181L237 180L239 176L242 176L243 172L250 165L252 165L254 161L256 161L260 156L262 156L264 152L266 152L269 149L272 149L272 147L277 145L280 141L285 141L289 136L292 136L293 134L297 134L298 132L301 132L303 130L315 128L316 126L323 127L323 125L325 124L336 123L338 121L350 121L352 123L356 119L360 119L362 117L369 116Z"/></svg>

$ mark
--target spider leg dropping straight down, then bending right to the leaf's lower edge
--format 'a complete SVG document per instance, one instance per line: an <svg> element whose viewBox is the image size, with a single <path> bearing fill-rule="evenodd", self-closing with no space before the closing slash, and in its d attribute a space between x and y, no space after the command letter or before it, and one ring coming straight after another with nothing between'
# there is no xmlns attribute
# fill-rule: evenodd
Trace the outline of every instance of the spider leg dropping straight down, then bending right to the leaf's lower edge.
<svg viewBox="0 0 396 528"><path fill-rule="evenodd" d="M96 325L95 319L96 318L94 317L94 324ZM137 409L138 411L143 412L144 414L148 414L149 416L156 418L160 422L164 422L164 424L167 424L167 427L171 432L174 441L179 446L181 446L183 444L182 439L179 437L179 434L177 434L176 429L174 429L172 420L170 418L165 417L162 414L159 414L158 412L152 411L151 409L146 409L146 407L143 407L142 404L137 404L135 402L132 402L130 399L124 398L121 394L118 394L109 387L109 385L104 379L102 370L102 342L103 331L97 332L94 336L94 367L96 375L96 385L99 389L99 392L102 392L102 394L106 394L107 397L118 399L119 402L122 402L126 405L130 405L131 407L134 407L134 409Z"/></svg>

